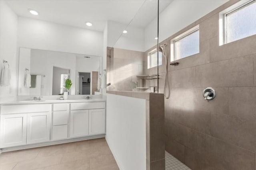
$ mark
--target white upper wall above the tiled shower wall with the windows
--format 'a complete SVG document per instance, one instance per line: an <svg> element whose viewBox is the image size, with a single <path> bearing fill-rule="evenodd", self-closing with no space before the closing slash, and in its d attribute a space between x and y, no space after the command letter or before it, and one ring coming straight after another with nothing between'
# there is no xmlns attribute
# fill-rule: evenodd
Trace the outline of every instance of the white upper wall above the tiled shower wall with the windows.
<svg viewBox="0 0 256 170"><path fill-rule="evenodd" d="M228 0L174 0L159 15L159 42L218 8ZM161 6L160 1L160 6ZM145 27L145 51L156 45L157 18Z"/></svg>

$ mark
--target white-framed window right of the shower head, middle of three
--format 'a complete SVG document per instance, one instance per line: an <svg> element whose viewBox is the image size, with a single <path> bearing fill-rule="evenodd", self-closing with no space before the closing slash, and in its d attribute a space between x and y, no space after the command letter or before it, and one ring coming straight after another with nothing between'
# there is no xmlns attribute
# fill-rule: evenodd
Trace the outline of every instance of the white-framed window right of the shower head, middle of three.
<svg viewBox="0 0 256 170"><path fill-rule="evenodd" d="M171 40L171 61L199 53L199 25Z"/></svg>

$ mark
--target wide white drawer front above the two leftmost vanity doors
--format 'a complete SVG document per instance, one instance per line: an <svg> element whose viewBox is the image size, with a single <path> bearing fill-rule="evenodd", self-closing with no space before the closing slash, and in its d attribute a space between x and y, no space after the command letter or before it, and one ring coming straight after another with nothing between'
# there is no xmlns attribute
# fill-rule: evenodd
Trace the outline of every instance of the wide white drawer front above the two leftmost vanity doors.
<svg viewBox="0 0 256 170"><path fill-rule="evenodd" d="M48 112L50 108L50 104L8 105L1 106L1 114Z"/></svg>

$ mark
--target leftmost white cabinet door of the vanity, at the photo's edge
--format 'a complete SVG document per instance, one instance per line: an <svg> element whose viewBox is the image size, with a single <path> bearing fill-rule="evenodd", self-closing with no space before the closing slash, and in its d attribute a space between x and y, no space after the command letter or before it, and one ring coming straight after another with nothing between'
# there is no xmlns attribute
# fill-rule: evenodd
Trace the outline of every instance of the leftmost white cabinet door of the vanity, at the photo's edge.
<svg viewBox="0 0 256 170"><path fill-rule="evenodd" d="M26 145L27 114L0 115L0 148Z"/></svg>

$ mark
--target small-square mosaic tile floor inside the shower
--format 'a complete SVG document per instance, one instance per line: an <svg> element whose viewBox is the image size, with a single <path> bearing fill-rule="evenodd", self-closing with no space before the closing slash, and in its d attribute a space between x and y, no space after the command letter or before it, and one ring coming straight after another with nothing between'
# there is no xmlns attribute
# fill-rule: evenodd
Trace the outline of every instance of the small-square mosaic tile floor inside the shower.
<svg viewBox="0 0 256 170"><path fill-rule="evenodd" d="M191 170L176 159L174 156L165 151L165 170Z"/></svg>

